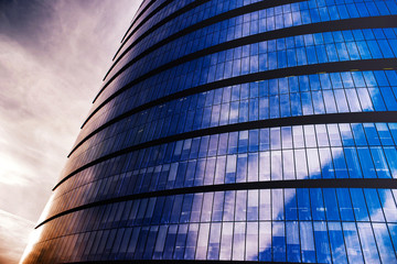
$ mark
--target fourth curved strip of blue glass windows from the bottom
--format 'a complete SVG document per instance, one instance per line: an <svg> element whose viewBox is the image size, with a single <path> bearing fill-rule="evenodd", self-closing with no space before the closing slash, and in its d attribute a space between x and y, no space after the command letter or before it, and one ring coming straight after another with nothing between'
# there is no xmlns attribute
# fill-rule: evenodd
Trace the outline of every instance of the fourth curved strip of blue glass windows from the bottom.
<svg viewBox="0 0 397 264"><path fill-rule="evenodd" d="M176 91L242 75L322 63L395 58L395 32L396 29L377 29L316 33L265 41L214 53L137 84L100 108L95 116L97 119L109 120L117 114L115 109L122 113ZM168 81L159 76L167 77ZM152 86L152 81L158 77L161 81ZM86 127L95 123L95 119L89 120Z"/></svg>

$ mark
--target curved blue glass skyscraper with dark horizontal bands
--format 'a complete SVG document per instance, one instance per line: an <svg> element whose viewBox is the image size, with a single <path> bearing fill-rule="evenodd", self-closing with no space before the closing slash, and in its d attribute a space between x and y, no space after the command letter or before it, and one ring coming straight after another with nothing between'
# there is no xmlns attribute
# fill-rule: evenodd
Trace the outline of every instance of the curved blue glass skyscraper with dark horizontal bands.
<svg viewBox="0 0 397 264"><path fill-rule="evenodd" d="M397 263L396 56L396 0L143 1L22 262Z"/></svg>

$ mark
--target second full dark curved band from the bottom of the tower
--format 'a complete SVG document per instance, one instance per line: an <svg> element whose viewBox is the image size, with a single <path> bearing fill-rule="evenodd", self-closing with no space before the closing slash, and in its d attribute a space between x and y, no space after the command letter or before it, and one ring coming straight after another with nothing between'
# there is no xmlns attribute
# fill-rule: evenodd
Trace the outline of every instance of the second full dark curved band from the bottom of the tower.
<svg viewBox="0 0 397 264"><path fill-rule="evenodd" d="M53 188L55 190L62 183L72 177L73 175L94 166L98 163L105 162L112 157L117 157L122 154L127 154L133 151L147 148L154 145L161 145L180 140L193 139L196 136L212 135L228 133L242 130L264 129L264 128L277 128L288 125L302 125L302 124L326 124L326 123L366 123L366 122L397 122L397 111L385 111L385 112L350 112L350 113L330 113L330 114L311 114L311 116L299 116L289 118L267 119L251 122L234 123L221 127L214 127L208 129L194 130L185 133L174 134L153 141L148 141L135 146L126 147L124 150L114 152L106 156L99 157L93 162L89 162L82 167L77 168L66 177L60 180Z"/></svg>

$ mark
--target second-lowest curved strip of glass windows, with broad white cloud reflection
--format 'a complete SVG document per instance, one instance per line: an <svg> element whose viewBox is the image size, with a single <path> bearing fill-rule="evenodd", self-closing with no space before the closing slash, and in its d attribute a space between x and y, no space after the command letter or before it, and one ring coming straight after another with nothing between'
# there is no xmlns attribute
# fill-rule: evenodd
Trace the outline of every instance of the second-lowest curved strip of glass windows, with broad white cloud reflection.
<svg viewBox="0 0 397 264"><path fill-rule="evenodd" d="M99 200L192 186L397 178L396 138L396 123L316 124L246 130L153 146L67 179L56 189L47 218ZM109 164L117 166L108 172Z"/></svg>

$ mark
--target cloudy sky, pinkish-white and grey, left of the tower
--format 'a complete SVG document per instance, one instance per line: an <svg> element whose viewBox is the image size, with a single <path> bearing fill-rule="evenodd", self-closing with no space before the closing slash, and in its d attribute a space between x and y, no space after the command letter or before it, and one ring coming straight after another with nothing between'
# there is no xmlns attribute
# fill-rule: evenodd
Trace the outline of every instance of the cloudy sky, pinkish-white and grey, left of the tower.
<svg viewBox="0 0 397 264"><path fill-rule="evenodd" d="M0 264L18 263L141 0L0 0Z"/></svg>

